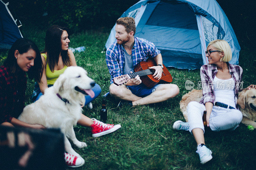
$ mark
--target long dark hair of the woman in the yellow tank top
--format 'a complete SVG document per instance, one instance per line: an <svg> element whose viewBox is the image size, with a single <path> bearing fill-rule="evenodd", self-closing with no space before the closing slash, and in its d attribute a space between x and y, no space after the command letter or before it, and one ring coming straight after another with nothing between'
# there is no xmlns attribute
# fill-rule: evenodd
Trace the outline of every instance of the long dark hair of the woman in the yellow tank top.
<svg viewBox="0 0 256 170"><path fill-rule="evenodd" d="M64 65L69 66L71 64L68 50L61 49L61 35L64 30L67 31L68 28L53 25L48 28L45 34L45 47L42 53L47 52L46 65L48 63L52 72L54 71L54 67L58 64L59 55L61 55Z"/></svg>

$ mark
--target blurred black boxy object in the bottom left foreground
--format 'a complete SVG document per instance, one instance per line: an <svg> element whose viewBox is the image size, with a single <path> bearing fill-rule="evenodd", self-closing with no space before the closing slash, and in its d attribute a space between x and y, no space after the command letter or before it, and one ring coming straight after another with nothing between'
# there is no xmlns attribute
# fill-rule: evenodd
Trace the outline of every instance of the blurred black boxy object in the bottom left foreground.
<svg viewBox="0 0 256 170"><path fill-rule="evenodd" d="M19 142L26 140L29 141L24 146ZM27 165L20 167L18 162L22 155L28 151L28 144L33 145L30 148L32 154L27 160ZM64 135L60 129L37 130L0 126L0 153L0 169L66 169Z"/></svg>

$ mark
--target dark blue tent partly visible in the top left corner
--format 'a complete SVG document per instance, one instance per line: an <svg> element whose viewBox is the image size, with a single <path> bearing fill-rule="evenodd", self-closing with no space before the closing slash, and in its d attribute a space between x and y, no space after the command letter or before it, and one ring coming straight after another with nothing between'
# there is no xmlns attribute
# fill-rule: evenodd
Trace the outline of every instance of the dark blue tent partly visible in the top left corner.
<svg viewBox="0 0 256 170"><path fill-rule="evenodd" d="M16 24L17 19L14 20L7 7L9 3L5 4L2 0L0 1L0 49L10 49L18 38L22 38L22 35Z"/></svg>

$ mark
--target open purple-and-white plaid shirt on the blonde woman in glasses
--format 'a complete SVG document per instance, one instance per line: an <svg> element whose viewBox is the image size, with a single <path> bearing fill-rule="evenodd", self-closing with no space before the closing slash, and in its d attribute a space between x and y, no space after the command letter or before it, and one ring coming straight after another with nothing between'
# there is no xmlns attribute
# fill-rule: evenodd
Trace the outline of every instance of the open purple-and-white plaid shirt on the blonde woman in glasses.
<svg viewBox="0 0 256 170"><path fill-rule="evenodd" d="M232 76L235 81L235 102L238 97L238 90L242 84L242 74L243 69L238 65L228 64L229 74ZM200 103L205 104L206 102L215 103L215 94L213 89L213 78L215 78L217 74L217 66L214 64L205 64L200 69L200 76L202 81L203 88L203 98Z"/></svg>

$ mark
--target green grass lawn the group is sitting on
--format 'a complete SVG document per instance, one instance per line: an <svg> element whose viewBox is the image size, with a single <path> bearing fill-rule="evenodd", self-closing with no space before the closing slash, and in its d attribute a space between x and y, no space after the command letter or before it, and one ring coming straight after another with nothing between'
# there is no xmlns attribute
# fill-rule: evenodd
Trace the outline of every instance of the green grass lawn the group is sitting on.
<svg viewBox="0 0 256 170"><path fill-rule="evenodd" d="M23 36L36 42L40 50L44 48L45 30L23 28ZM92 102L93 109L84 108L83 114L100 119L102 95L108 92L110 75L101 53L108 38L108 32L86 31L70 36L73 48L85 46L85 52L75 53L76 63L88 71L102 88L100 96ZM239 63L244 69L244 87L256 84L255 49L241 45ZM4 58L6 52L0 53ZM1 61L2 63L2 61ZM85 159L84 166L76 169L254 169L256 130L248 131L243 124L234 131L212 132L207 130L205 142L212 150L213 159L201 165L196 153L196 142L188 131L175 131L172 125L183 120L179 108L182 95L188 92L185 81L195 84L200 81L199 70L179 70L168 68L173 84L180 88L176 97L149 106L124 106L116 108L119 101L107 99L108 121L121 124L122 128L114 133L92 137L90 128L76 126L76 137L87 143L84 149L73 147ZM33 91L33 83L28 81L26 93ZM71 169L71 168L70 168Z"/></svg>

